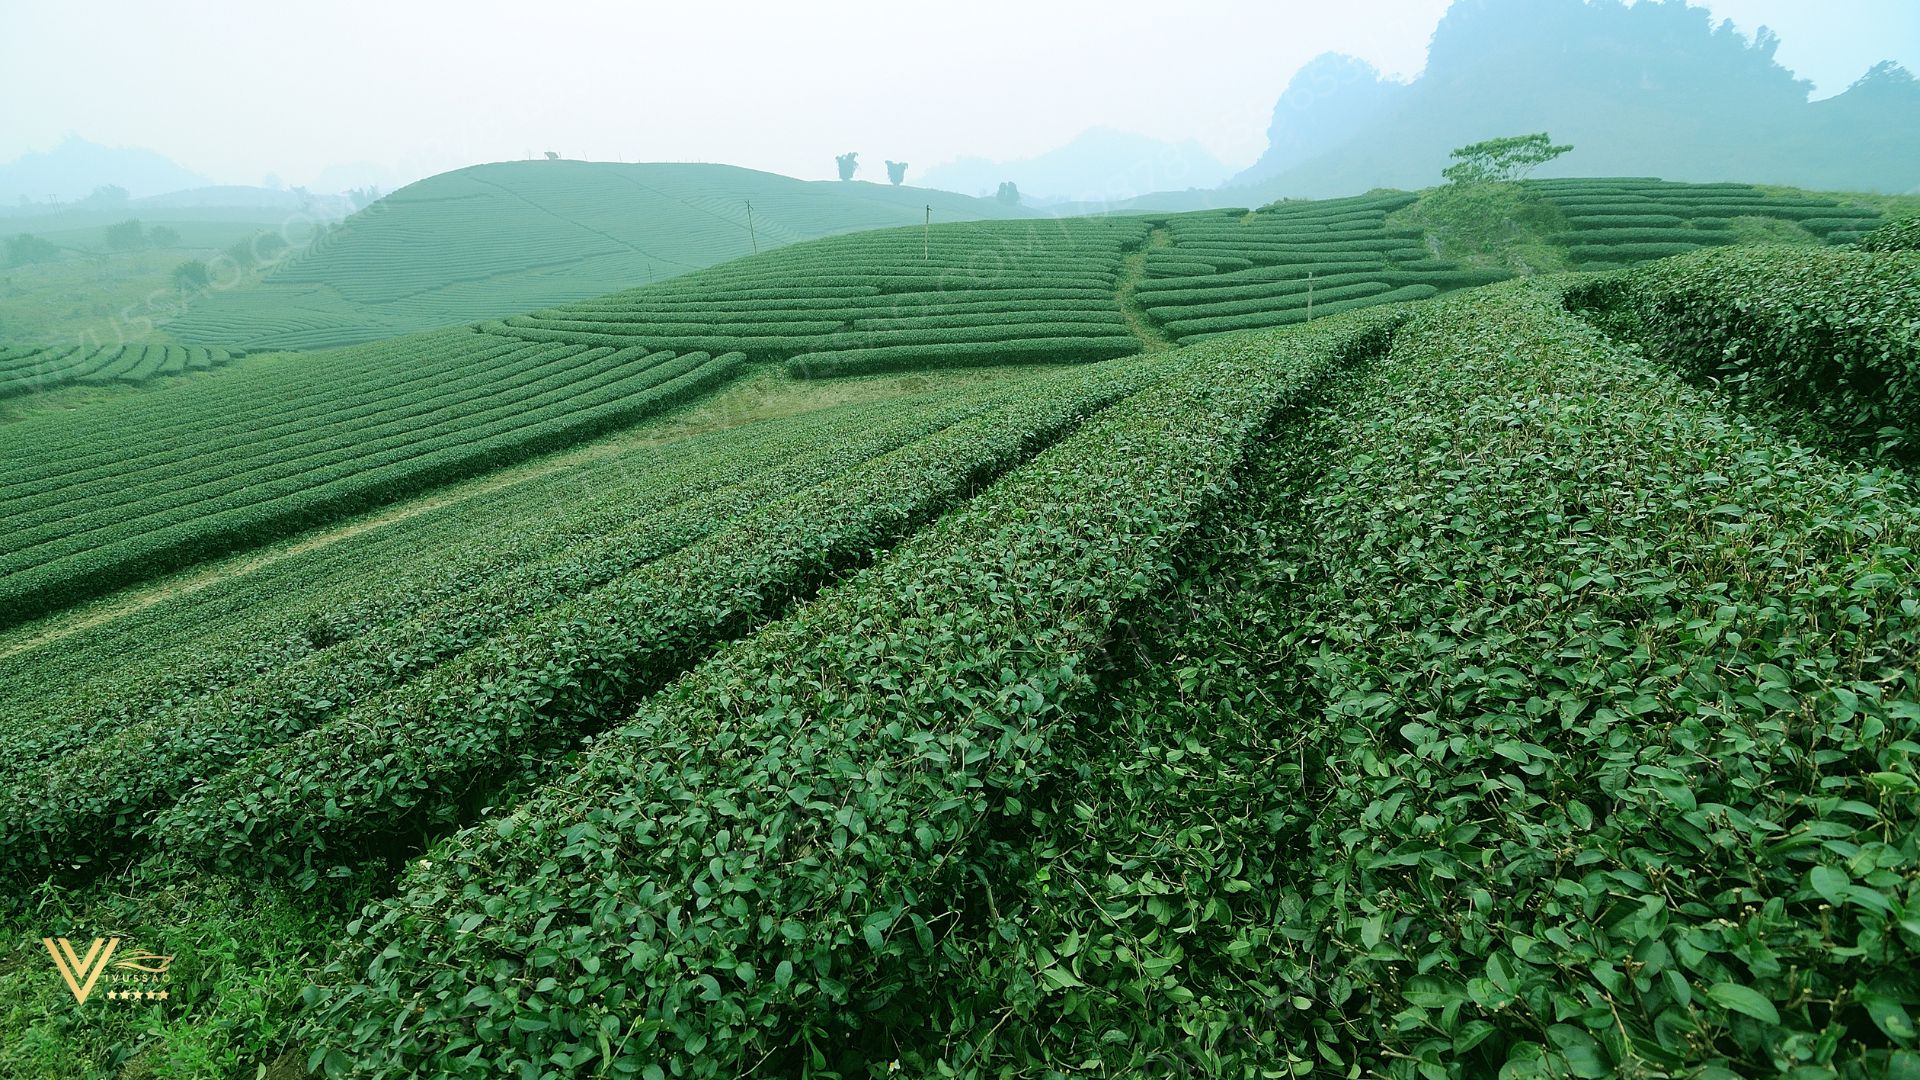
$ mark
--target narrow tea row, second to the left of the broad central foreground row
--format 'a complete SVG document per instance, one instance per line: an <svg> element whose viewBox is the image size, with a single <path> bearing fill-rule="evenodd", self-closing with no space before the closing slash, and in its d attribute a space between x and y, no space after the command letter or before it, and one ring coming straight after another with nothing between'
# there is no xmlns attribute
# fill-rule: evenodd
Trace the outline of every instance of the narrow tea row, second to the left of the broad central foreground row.
<svg viewBox="0 0 1920 1080"><path fill-rule="evenodd" d="M962 400L916 409L735 484L662 505L564 555L505 573L459 575L467 588L440 603L234 680L217 694L186 703L154 701L140 723L121 730L104 730L94 717L92 723L6 732L0 746L12 751L8 765L27 759L40 767L0 786L0 801L13 807L0 824L0 876L33 880L54 865L98 865L129 847L134 826L148 813L232 769L248 753L278 746L422 673L428 680L442 678L445 673L430 673L434 665L486 646L509 626L516 640L526 640L551 623L553 609L580 596L795 498L795 492L833 482L881 454L933 436L950 421L1002 404ZM651 617L666 619L659 611Z"/></svg>

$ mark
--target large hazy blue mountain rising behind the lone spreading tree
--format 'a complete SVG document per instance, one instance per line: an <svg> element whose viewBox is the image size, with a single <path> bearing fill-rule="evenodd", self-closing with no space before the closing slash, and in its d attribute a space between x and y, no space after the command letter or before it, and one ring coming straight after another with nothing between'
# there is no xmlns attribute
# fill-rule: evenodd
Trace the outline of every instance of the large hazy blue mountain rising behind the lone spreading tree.
<svg viewBox="0 0 1920 1080"><path fill-rule="evenodd" d="M1267 154L1219 198L1332 196L1440 183L1448 152L1551 131L1574 152L1542 175L1920 186L1920 83L1884 63L1836 98L1703 8L1642 0L1457 0L1407 85L1323 56L1273 113Z"/></svg>

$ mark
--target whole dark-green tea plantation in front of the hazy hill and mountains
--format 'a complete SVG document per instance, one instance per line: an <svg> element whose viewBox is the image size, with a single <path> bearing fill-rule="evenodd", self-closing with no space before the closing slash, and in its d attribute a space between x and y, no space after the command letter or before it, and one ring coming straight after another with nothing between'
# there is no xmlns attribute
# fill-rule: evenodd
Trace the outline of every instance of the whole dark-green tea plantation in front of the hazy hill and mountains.
<svg viewBox="0 0 1920 1080"><path fill-rule="evenodd" d="M1920 254L1540 190L1622 269L881 229L0 427L0 1074L1920 1070Z"/></svg>

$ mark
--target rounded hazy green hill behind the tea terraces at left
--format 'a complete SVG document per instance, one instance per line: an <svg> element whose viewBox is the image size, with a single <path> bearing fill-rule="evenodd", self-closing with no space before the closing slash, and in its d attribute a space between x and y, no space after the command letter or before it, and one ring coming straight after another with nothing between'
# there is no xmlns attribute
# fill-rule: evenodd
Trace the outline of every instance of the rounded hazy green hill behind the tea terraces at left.
<svg viewBox="0 0 1920 1080"><path fill-rule="evenodd" d="M753 206L753 233L747 206ZM732 165L501 161L407 184L257 284L211 292L188 344L326 348L513 315L816 236L1029 211Z"/></svg>

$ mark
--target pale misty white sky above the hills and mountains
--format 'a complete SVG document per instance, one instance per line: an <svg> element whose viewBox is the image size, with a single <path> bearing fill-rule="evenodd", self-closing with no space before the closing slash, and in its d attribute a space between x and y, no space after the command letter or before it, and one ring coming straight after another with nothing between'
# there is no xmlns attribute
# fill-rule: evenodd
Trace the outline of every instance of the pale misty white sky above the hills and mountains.
<svg viewBox="0 0 1920 1080"><path fill-rule="evenodd" d="M1836 94L1920 71L1920 0L1705 0ZM67 133L217 183L392 179L524 158L728 161L806 179L860 150L918 171L1021 158L1087 127L1265 148L1321 52L1417 75L1448 0L0 2L0 161ZM338 177L340 173L336 173ZM357 183L357 181L355 181Z"/></svg>

